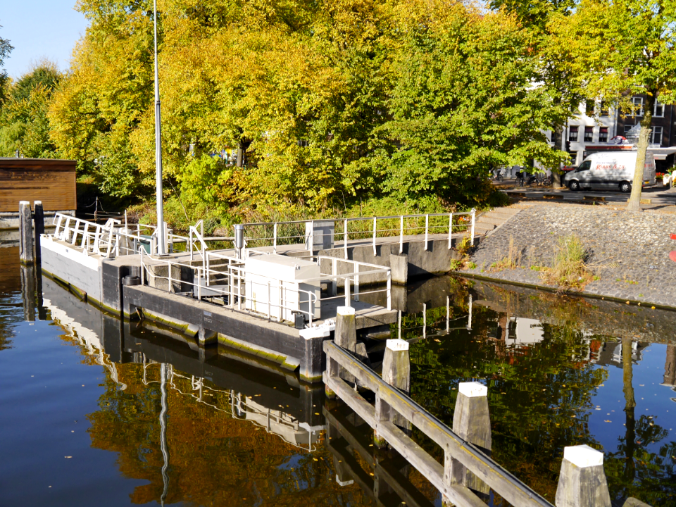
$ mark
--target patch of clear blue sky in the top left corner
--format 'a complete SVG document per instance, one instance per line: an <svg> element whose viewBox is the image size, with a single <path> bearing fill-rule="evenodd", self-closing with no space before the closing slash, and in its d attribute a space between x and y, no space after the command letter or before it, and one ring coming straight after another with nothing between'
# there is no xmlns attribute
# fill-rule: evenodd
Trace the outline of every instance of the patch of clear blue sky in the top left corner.
<svg viewBox="0 0 676 507"><path fill-rule="evenodd" d="M42 58L68 68L73 46L87 30L84 15L73 10L75 1L0 0L0 37L14 46L4 65L11 77L21 77Z"/></svg>

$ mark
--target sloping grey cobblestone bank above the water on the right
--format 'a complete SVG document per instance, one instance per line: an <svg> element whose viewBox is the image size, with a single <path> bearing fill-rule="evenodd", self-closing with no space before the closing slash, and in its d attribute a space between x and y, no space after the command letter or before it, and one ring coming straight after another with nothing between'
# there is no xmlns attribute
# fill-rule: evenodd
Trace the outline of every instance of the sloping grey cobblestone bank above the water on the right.
<svg viewBox="0 0 676 507"><path fill-rule="evenodd" d="M526 208L484 239L466 273L496 280L544 285L531 266L551 266L558 238L577 234L589 252L588 264L599 276L584 292L676 307L676 250L670 234L676 217L655 211L627 213L607 206L539 204ZM520 254L521 268L491 273L492 263Z"/></svg>

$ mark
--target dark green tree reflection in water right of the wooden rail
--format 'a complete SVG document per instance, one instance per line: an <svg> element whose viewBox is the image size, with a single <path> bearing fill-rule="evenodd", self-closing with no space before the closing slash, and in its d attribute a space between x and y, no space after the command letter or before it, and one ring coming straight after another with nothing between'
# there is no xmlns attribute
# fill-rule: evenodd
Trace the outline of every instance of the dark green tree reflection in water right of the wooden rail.
<svg viewBox="0 0 676 507"><path fill-rule="evenodd" d="M458 382L487 380L494 458L553 500L563 447L600 447L589 434L587 418L594 391L607 372L588 361L571 360L586 357L589 344L570 327L545 325L542 342L506 346L501 316L475 307L471 334L456 330L442 342L428 339L412 346L411 392L450 425ZM415 437L434 452L422 434Z"/></svg>

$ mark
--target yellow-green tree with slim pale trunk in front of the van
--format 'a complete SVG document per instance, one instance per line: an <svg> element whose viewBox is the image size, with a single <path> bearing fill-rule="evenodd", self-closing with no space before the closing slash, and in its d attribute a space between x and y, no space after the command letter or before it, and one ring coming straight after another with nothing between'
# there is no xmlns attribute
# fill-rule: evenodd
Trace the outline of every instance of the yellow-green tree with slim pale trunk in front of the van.
<svg viewBox="0 0 676 507"><path fill-rule="evenodd" d="M634 94L646 97L637 161L627 209L640 211L641 188L653 108L676 102L676 2L673 0L582 0L575 13L551 21L553 46L587 96L614 102L640 115Z"/></svg>

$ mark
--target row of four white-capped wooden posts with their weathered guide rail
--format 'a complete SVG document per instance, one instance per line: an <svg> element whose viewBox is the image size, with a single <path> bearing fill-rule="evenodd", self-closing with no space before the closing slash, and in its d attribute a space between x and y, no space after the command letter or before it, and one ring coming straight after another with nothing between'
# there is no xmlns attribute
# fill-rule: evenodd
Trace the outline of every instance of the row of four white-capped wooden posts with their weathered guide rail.
<svg viewBox="0 0 676 507"><path fill-rule="evenodd" d="M334 348L335 345L343 351L349 351L351 357L356 361L350 361L350 356L346 356L340 349ZM461 446L456 447L460 451L459 453L465 451L466 447L473 458L476 458L477 454L480 456L482 466L477 465L475 470L484 472L483 477L488 482L492 482L492 485L484 482L482 478L477 477L475 473L472 473L461 463L461 461L470 463L471 459L466 456L464 458L463 456L453 456L449 452L450 446L448 445L444 449L443 477L439 477L440 469L434 467L435 463L429 466L424 465L430 463L430 456L418 456L416 453L425 453L425 451L410 439L407 441L408 437L404 437L401 431L399 434L402 436L396 437L397 442L389 442L388 438L382 434L386 431L386 428L389 428L387 434L396 434L396 431L392 432L392 425L386 426L386 423L394 423L396 427L410 436L411 421L413 421L413 424L425 434L427 434L425 427L434 427L435 434L428 434L428 436L441 444L439 442L441 439L440 433L437 432L436 426L442 425L442 423L408 397L411 371L408 342L402 339L387 340L382 363L382 380L375 378L373 370L358 363L358 361L366 362L368 358L366 357L365 345L356 341L354 310L349 307L340 307L336 320L334 344L325 344L325 351L327 352L327 369L325 371L327 396L330 399L335 397L342 399L353 408L355 413L364 418L374 428L374 443L377 446L384 447L390 444L398 451L399 449L405 450L406 452L402 455L408 454L404 457L411 461L414 466L416 466L414 461L423 463L422 467L416 466L416 468L427 480L430 480L440 489L444 506L480 505L482 502L477 503L477 501L485 499L491 487L505 499L522 499L522 505L552 505L511 474L506 473L506 470L503 470L490 458L492 436L486 386L480 384L480 382L461 382L458 387L458 398L453 413L452 432L447 427L444 427L443 431L458 442L463 442ZM362 369L363 376L360 375ZM383 381L384 384L382 384ZM351 387L346 389L347 385ZM368 387L375 392L375 408L369 407L365 399L358 393L358 390L362 387ZM386 394L385 389L392 389L393 391L396 389L397 392ZM391 404L393 400L399 398L402 399L402 413L396 411ZM384 399L389 400L390 403L384 401ZM395 403L398 403L398 401ZM414 411L409 409L411 406L414 406ZM408 411L409 415L402 415L405 411ZM382 430L379 431L379 428L382 428ZM411 460L411 458L414 459ZM439 466L437 465L437 467ZM501 480L501 478L504 478L502 476L505 475L510 476L508 480ZM496 480L496 477L500 480ZM471 494L465 493L467 489L471 491ZM446 496L444 491L453 498ZM518 504L514 501L510 503ZM627 504L629 503L627 502ZM601 451L592 449L587 445L564 448L555 505L556 507L611 507ZM632 503L632 505L634 504Z"/></svg>

